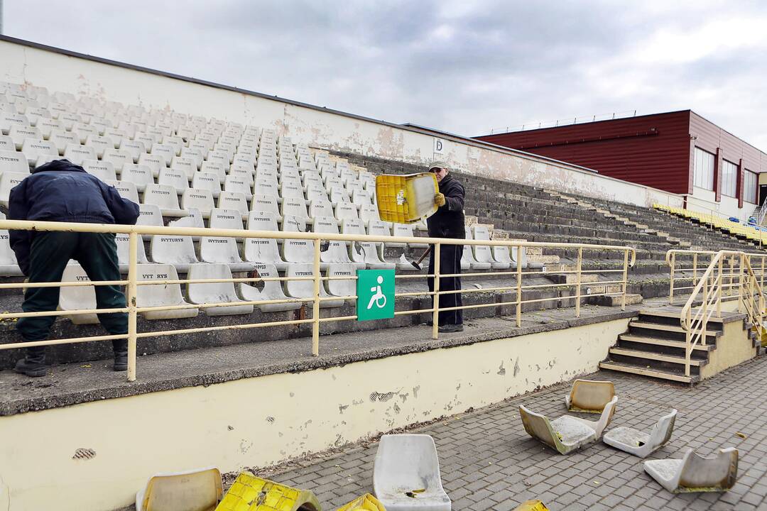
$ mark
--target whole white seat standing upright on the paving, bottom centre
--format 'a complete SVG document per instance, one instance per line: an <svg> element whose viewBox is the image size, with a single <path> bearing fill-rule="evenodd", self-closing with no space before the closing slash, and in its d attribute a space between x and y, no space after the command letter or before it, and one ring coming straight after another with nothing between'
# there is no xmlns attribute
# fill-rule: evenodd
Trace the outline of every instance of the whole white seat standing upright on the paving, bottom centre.
<svg viewBox="0 0 767 511"><path fill-rule="evenodd" d="M373 466L373 491L387 511L450 511L439 457L428 434L384 434Z"/></svg>

